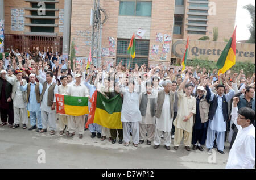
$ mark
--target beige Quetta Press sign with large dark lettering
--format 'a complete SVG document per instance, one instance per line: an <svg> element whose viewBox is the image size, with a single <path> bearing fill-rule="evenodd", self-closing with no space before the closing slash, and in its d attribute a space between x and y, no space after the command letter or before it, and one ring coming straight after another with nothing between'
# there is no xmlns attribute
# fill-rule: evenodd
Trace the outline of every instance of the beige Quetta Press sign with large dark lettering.
<svg viewBox="0 0 256 180"><path fill-rule="evenodd" d="M187 41L173 39L171 58L182 58ZM217 61L225 48L226 42L189 40L188 59L201 58ZM249 61L255 64L255 44L237 43L236 61Z"/></svg>

